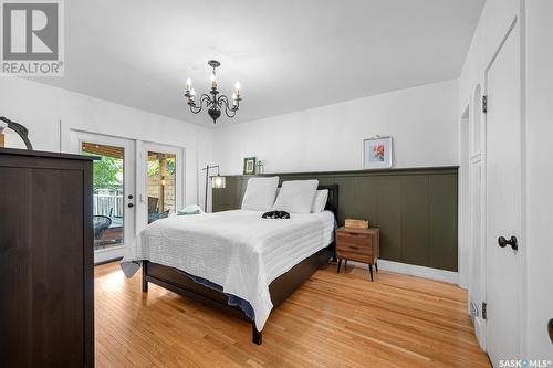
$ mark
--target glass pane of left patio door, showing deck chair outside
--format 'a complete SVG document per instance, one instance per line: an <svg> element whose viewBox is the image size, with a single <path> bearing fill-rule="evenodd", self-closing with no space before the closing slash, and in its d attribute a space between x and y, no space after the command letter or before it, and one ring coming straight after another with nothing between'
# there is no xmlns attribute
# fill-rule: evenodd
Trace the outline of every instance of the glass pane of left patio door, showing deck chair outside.
<svg viewBox="0 0 553 368"><path fill-rule="evenodd" d="M93 167L94 251L124 244L125 148L81 143L83 155L97 156Z"/></svg>

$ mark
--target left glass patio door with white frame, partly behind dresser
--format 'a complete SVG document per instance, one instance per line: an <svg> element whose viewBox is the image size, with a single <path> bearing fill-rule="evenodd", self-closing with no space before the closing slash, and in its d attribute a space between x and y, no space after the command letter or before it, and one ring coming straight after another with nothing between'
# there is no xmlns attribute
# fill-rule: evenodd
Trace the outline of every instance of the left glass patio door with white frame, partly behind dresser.
<svg viewBox="0 0 553 368"><path fill-rule="evenodd" d="M101 157L94 161L94 263L124 255L135 238L135 141L71 130L70 149Z"/></svg>

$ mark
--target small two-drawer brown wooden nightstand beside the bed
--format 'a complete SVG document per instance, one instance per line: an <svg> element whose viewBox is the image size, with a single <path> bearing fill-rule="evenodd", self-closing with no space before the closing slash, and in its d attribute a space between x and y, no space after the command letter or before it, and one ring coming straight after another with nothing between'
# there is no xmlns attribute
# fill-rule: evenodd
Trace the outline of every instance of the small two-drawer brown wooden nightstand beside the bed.
<svg viewBox="0 0 553 368"><path fill-rule="evenodd" d="M338 259L338 270L342 260L356 261L368 264L371 281L373 281L373 265L378 272L378 255L380 250L380 230L378 228L354 229L342 227L336 230L336 257Z"/></svg>

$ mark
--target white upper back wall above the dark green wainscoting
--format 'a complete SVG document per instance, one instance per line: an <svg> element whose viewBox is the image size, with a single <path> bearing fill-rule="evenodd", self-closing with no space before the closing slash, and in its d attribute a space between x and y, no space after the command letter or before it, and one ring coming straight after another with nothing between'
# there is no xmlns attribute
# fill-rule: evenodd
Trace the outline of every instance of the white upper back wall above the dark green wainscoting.
<svg viewBox="0 0 553 368"><path fill-rule="evenodd" d="M458 165L457 116L457 81L447 81L229 123L213 134L213 158L225 174L241 174L249 156L265 172L353 170L362 168L364 138L390 135L395 167Z"/></svg>

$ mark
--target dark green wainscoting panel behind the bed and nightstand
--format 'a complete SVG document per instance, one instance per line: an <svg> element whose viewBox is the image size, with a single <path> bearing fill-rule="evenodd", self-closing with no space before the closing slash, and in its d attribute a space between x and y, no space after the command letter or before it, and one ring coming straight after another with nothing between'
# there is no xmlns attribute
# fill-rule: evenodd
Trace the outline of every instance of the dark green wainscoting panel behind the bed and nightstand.
<svg viewBox="0 0 553 368"><path fill-rule="evenodd" d="M380 228L380 259L457 271L457 167L265 174L338 186L338 223L368 219ZM213 211L239 209L252 176L227 176Z"/></svg>

